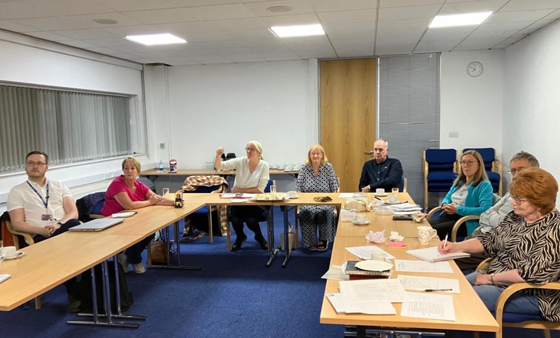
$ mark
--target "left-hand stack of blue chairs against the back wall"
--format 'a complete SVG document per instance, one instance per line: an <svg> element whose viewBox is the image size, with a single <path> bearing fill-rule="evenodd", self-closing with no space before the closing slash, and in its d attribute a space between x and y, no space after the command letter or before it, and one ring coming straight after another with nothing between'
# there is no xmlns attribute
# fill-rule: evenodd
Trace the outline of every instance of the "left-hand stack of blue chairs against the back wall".
<svg viewBox="0 0 560 338"><path fill-rule="evenodd" d="M455 149L427 149L424 151L424 210L428 210L428 193L447 193L457 178Z"/></svg>

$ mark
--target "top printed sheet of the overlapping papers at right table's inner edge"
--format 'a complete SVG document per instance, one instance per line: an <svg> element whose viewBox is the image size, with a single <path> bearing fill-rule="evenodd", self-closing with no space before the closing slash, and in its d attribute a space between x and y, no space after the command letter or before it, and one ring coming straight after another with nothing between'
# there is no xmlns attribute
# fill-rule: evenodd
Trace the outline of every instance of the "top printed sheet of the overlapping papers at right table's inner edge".
<svg viewBox="0 0 560 338"><path fill-rule="evenodd" d="M398 279L339 281L340 293L347 303L402 303L410 297Z"/></svg>

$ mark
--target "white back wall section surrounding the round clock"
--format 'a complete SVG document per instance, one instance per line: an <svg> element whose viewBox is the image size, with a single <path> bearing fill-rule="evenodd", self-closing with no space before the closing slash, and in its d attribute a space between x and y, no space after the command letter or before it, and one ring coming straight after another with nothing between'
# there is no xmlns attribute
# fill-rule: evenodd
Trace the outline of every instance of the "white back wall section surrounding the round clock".
<svg viewBox="0 0 560 338"><path fill-rule="evenodd" d="M501 158L503 55L503 50L441 53L441 148L492 147ZM475 78L466 73L473 61L484 67ZM450 132L459 137L450 138Z"/></svg>

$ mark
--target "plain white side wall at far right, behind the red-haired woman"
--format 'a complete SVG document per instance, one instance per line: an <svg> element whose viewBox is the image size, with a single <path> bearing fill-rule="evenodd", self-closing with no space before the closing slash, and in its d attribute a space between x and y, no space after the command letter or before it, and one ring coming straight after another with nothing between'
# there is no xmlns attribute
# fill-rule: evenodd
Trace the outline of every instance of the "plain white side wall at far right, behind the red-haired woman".
<svg viewBox="0 0 560 338"><path fill-rule="evenodd" d="M503 154L534 154L560 180L560 22L506 49ZM557 204L558 205L558 204Z"/></svg>

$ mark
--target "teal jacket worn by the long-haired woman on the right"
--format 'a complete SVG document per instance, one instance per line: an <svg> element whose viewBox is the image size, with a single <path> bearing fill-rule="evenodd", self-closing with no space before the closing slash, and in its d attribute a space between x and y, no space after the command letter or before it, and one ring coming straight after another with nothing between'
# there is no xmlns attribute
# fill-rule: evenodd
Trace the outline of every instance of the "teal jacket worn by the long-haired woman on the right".
<svg viewBox="0 0 560 338"><path fill-rule="evenodd" d="M451 203L451 195L463 184L452 186L449 193L445 195L443 203ZM493 189L490 181L481 181L477 186L469 184L466 186L468 191L465 198L465 205L457 206L457 214L461 216L480 215L492 206ZM442 203L442 204L443 204ZM478 228L478 220L470 219L466 221L466 231L473 233Z"/></svg>

